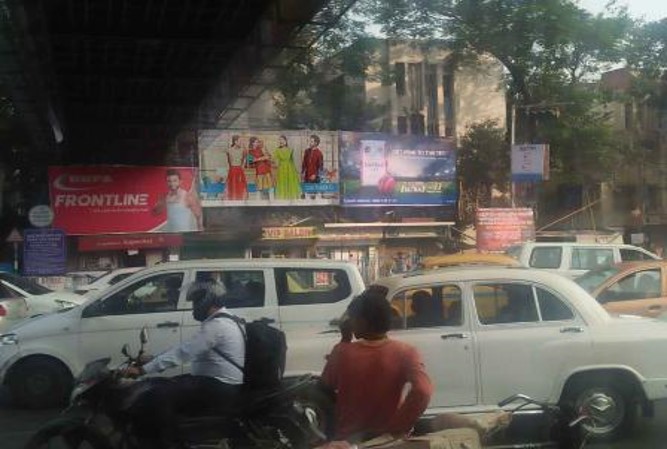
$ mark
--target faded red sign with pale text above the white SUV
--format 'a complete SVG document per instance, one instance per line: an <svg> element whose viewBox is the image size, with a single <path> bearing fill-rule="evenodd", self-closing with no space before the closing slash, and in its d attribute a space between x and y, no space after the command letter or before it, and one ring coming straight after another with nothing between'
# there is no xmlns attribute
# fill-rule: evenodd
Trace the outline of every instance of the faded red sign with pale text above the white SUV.
<svg viewBox="0 0 667 449"><path fill-rule="evenodd" d="M512 245L535 240L530 208L477 209L477 251L503 252Z"/></svg>

